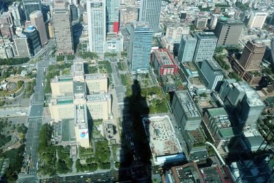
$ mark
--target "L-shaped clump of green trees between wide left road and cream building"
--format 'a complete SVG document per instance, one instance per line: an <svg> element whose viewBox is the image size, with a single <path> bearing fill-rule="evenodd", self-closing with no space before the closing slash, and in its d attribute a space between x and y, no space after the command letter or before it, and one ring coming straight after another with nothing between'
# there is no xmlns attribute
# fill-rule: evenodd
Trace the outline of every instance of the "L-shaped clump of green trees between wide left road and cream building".
<svg viewBox="0 0 274 183"><path fill-rule="evenodd" d="M52 127L42 125L39 134L38 156L40 166L38 172L42 175L55 173L69 173L72 171L73 160L70 156L70 147L51 145Z"/></svg>

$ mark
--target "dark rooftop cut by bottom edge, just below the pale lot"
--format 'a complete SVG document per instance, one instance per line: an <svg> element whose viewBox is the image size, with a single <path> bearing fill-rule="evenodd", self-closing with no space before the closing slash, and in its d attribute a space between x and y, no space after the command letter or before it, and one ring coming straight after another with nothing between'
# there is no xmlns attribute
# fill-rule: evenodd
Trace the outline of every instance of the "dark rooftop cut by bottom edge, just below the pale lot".
<svg viewBox="0 0 274 183"><path fill-rule="evenodd" d="M204 182L196 162L190 162L182 166L171 167L171 171L173 173L175 182Z"/></svg>

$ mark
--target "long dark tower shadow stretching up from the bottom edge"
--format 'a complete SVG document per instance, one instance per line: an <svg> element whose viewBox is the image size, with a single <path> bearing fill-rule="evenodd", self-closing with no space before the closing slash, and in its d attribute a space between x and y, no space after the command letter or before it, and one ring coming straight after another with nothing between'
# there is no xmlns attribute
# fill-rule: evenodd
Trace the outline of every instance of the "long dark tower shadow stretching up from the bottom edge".
<svg viewBox="0 0 274 183"><path fill-rule="evenodd" d="M132 84L132 95L125 97L124 103L118 180L151 182L149 134L142 122L149 117L149 106L137 80Z"/></svg>

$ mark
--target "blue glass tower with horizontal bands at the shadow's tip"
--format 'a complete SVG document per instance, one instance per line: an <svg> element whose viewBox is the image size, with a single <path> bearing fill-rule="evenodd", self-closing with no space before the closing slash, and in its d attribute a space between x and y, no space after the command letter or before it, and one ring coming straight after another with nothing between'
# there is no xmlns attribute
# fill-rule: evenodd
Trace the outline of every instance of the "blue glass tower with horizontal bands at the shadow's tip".
<svg viewBox="0 0 274 183"><path fill-rule="evenodd" d="M153 31L146 22L133 22L129 27L129 64L132 74L148 73Z"/></svg>

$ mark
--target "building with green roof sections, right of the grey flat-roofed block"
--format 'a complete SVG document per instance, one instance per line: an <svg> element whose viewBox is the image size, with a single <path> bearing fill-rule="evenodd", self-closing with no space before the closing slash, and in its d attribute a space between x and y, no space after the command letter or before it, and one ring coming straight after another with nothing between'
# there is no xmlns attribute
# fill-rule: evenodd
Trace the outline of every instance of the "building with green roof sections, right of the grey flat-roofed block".
<svg viewBox="0 0 274 183"><path fill-rule="evenodd" d="M216 149L228 145L236 136L236 129L232 127L225 108L209 108L203 114L203 129L214 142Z"/></svg>

